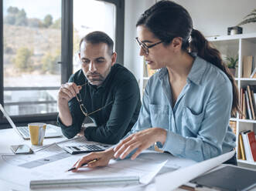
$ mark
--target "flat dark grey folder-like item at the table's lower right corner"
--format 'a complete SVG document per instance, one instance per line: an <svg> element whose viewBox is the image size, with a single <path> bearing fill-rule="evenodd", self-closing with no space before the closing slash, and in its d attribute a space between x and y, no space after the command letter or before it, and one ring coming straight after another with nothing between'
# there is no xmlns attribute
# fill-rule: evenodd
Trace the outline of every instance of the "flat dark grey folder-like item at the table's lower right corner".
<svg viewBox="0 0 256 191"><path fill-rule="evenodd" d="M190 181L217 190L246 191L256 186L256 170L227 165Z"/></svg>

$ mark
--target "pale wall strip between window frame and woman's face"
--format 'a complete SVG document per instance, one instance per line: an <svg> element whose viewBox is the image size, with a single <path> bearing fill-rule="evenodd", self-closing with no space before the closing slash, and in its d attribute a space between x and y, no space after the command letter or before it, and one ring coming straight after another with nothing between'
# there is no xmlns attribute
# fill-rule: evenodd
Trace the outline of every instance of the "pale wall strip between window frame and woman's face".
<svg viewBox="0 0 256 191"><path fill-rule="evenodd" d="M140 15L150 6L155 3L155 0L125 0L125 55L124 65L130 69L138 80L142 75L142 56L139 56L138 45L135 42L136 22Z"/></svg>

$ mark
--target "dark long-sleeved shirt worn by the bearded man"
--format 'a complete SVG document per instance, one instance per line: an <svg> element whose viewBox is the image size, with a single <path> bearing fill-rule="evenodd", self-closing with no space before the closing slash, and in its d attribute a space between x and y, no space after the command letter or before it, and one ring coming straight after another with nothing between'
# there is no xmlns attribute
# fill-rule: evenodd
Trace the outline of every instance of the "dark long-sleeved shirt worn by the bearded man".
<svg viewBox="0 0 256 191"><path fill-rule="evenodd" d="M77 85L87 82L82 69L71 75L69 82L75 82ZM90 119L97 127L89 126L84 130L84 136L89 141L115 144L131 130L138 119L141 107L138 82L135 76L122 65L114 64L100 86L89 83L84 85L80 95L88 113L113 101L101 111L90 115ZM73 124L64 126L59 117L58 122L63 135L70 139L80 132L85 116L80 110L76 97L68 104Z"/></svg>

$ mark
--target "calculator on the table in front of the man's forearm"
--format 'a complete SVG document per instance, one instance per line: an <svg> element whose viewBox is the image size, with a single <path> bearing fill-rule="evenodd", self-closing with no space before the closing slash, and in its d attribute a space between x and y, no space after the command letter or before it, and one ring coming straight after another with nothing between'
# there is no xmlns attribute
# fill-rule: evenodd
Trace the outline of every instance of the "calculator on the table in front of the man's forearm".
<svg viewBox="0 0 256 191"><path fill-rule="evenodd" d="M81 145L81 146L64 146L63 149L69 152L72 155L79 154L79 153L88 153L88 152L97 152L97 151L104 151L108 149L109 146L107 145L100 145L100 144L91 144L91 145Z"/></svg>

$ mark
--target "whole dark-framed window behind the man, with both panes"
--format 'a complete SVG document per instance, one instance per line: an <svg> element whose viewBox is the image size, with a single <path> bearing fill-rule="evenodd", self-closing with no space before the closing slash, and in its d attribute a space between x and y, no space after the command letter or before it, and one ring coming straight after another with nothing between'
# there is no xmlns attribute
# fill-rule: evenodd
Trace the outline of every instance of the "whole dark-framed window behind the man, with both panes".
<svg viewBox="0 0 256 191"><path fill-rule="evenodd" d="M15 122L56 119L80 39L102 30L123 62L124 0L0 0L0 103ZM73 65L74 62L74 65ZM0 113L0 125L7 121Z"/></svg>

